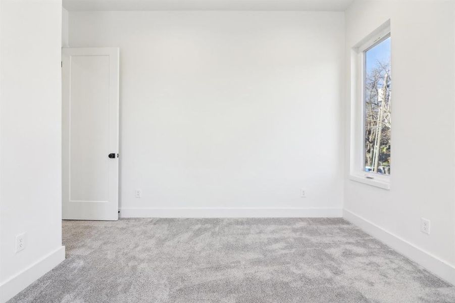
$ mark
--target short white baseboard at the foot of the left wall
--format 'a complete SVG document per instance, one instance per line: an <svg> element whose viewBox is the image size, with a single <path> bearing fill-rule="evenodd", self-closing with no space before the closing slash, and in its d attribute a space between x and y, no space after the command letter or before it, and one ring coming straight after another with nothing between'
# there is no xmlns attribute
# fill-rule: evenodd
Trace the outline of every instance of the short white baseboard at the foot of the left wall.
<svg viewBox="0 0 455 303"><path fill-rule="evenodd" d="M63 260L65 260L65 246L60 246L25 270L2 283L0 285L0 303L5 303L11 299L39 277L59 265Z"/></svg>

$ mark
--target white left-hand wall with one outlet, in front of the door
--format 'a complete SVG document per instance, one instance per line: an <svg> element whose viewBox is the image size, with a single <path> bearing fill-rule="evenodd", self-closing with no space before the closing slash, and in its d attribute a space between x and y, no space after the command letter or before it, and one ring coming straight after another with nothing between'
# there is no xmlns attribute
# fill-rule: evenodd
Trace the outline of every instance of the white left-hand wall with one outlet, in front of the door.
<svg viewBox="0 0 455 303"><path fill-rule="evenodd" d="M65 258L61 1L0 2L0 301ZM16 254L15 237L26 233Z"/></svg>

